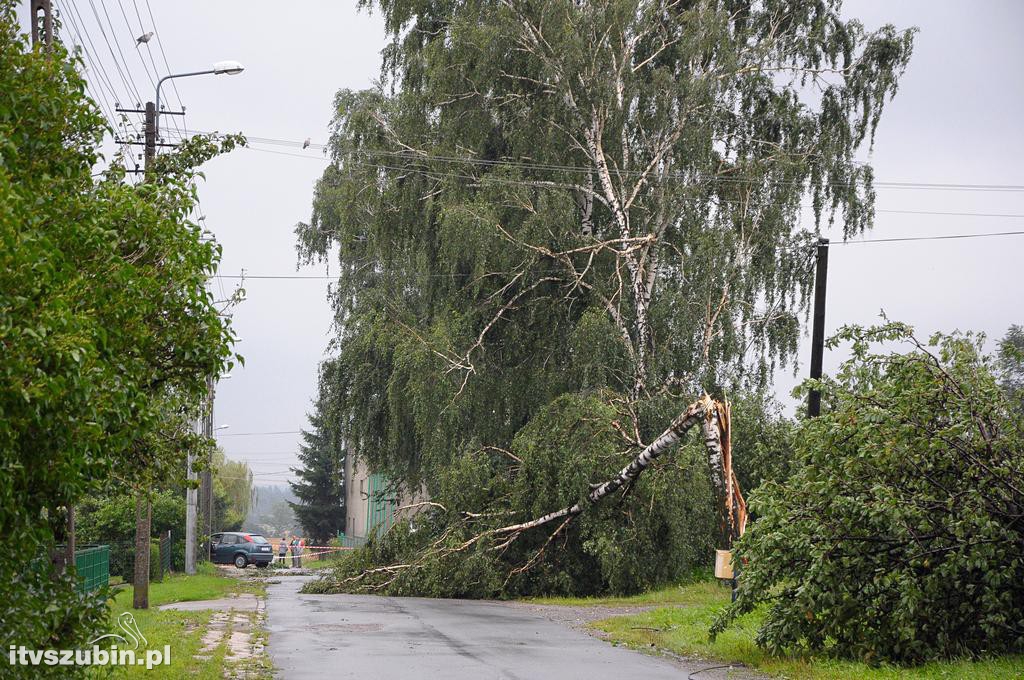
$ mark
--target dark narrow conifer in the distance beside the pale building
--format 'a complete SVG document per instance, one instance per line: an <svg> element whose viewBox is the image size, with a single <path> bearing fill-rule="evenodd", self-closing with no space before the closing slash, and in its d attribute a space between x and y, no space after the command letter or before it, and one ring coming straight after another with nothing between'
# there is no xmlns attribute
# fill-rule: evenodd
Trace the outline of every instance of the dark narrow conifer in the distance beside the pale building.
<svg viewBox="0 0 1024 680"><path fill-rule="evenodd" d="M303 532L317 542L328 541L345 528L345 447L334 409L332 386L337 370L334 362L321 367L319 393L308 415L310 429L302 430L299 444L299 481L289 484L297 501L288 502Z"/></svg>

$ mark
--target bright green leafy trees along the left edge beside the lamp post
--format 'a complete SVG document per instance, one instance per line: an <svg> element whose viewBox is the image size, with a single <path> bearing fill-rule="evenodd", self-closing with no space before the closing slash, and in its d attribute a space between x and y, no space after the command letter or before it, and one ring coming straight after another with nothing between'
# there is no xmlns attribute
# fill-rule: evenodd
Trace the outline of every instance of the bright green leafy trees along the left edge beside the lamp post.
<svg viewBox="0 0 1024 680"><path fill-rule="evenodd" d="M196 166L238 139L189 140L142 183L116 168L93 177L103 121L80 62L59 41L30 48L13 7L0 2L0 536L12 554L0 643L71 648L105 608L53 573L59 508L183 469L198 444L189 405L231 358L205 290L219 248L188 215Z"/></svg>

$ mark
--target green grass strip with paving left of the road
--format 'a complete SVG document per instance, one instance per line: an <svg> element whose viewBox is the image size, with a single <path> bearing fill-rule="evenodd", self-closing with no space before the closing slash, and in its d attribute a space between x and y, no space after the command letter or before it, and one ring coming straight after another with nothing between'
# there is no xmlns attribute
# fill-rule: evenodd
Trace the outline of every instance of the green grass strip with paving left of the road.
<svg viewBox="0 0 1024 680"><path fill-rule="evenodd" d="M226 648L223 642L209 652L209 661L193 658L202 647L203 633L213 615L213 610L160 611L161 604L189 602L224 597L231 593L254 592L262 586L220 576L217 568L201 564L196 576L171 575L161 583L150 584L150 608L132 609L132 589L122 588L111 600L111 622L122 611L131 611L139 631L145 636L150 649L171 647L171 664L154 667L116 667L115 678L153 678L161 680L221 680Z"/></svg>

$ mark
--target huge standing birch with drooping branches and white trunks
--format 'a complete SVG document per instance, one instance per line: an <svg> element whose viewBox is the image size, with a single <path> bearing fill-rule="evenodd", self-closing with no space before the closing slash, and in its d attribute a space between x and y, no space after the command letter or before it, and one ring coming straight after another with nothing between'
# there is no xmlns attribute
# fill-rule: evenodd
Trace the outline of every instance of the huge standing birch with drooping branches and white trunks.
<svg viewBox="0 0 1024 680"><path fill-rule="evenodd" d="M371 468L436 496L597 390L628 461L792 359L818 225L871 223L858 151L911 32L839 0L372 4L382 83L338 93L297 229L338 249L340 422Z"/></svg>

